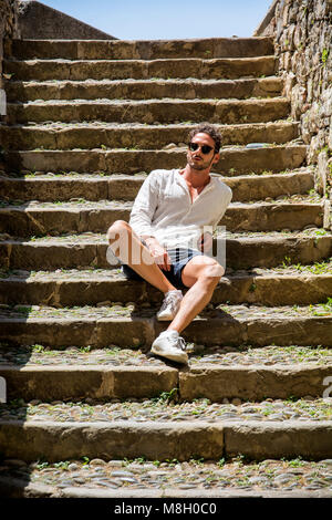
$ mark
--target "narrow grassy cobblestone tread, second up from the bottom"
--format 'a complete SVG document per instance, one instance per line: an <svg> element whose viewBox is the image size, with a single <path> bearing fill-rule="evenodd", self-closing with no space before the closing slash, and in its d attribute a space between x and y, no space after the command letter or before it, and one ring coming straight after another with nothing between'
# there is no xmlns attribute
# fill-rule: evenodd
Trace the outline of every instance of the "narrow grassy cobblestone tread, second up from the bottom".
<svg viewBox="0 0 332 520"><path fill-rule="evenodd" d="M152 399L128 398L110 399L101 403L92 398L80 402L63 403L53 401L42 403L33 399L25 404L23 399L14 399L0 408L0 419L7 420L55 420L55 422L181 422L219 420L236 422L288 422L288 420L330 420L332 418L332 398L314 399L305 396L301 399L288 401L266 399L260 403L243 402L234 398L231 403L211 404L209 399L176 403L177 391L163 392Z"/></svg>

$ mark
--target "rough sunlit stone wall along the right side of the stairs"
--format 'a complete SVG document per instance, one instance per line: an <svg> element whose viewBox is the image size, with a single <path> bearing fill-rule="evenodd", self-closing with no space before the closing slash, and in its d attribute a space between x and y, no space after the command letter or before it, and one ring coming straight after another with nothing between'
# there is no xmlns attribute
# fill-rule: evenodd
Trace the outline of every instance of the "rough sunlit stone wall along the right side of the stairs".
<svg viewBox="0 0 332 520"><path fill-rule="evenodd" d="M255 35L274 35L291 115L317 164L317 189L332 199L332 0L277 0Z"/></svg>

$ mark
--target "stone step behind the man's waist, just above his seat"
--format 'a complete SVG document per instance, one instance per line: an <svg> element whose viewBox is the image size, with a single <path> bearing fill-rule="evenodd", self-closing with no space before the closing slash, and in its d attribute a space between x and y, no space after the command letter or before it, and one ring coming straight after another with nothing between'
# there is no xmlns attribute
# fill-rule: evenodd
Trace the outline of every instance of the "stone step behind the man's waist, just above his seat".
<svg viewBox="0 0 332 520"><path fill-rule="evenodd" d="M3 269L112 269L106 260L106 236L81 233L62 237L11 239L1 237ZM218 245L224 247L225 237ZM321 229L302 232L226 233L227 266L232 269L272 268L283 262L312 264L332 256L332 236Z"/></svg>

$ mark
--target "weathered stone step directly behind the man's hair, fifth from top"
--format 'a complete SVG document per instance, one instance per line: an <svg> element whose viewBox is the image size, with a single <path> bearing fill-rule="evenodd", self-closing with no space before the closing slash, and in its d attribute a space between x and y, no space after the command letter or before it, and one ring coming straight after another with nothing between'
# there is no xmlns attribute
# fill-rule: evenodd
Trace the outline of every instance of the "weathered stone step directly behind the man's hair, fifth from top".
<svg viewBox="0 0 332 520"><path fill-rule="evenodd" d="M230 116L231 117L231 116ZM216 125L217 126L217 125ZM0 127L6 149L145 148L159 149L187 143L194 125L112 125L102 123L17 125ZM222 145L283 144L298 137L298 123L218 125Z"/></svg>

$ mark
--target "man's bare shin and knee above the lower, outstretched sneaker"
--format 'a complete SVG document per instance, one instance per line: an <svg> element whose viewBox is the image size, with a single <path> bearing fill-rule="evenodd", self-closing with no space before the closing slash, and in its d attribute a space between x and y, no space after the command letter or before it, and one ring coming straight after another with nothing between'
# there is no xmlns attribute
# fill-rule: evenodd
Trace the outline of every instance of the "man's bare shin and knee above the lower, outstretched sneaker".
<svg viewBox="0 0 332 520"><path fill-rule="evenodd" d="M209 257L194 257L183 270L183 282L190 287L169 324L169 331L180 333L211 300L222 277L224 268Z"/></svg>

